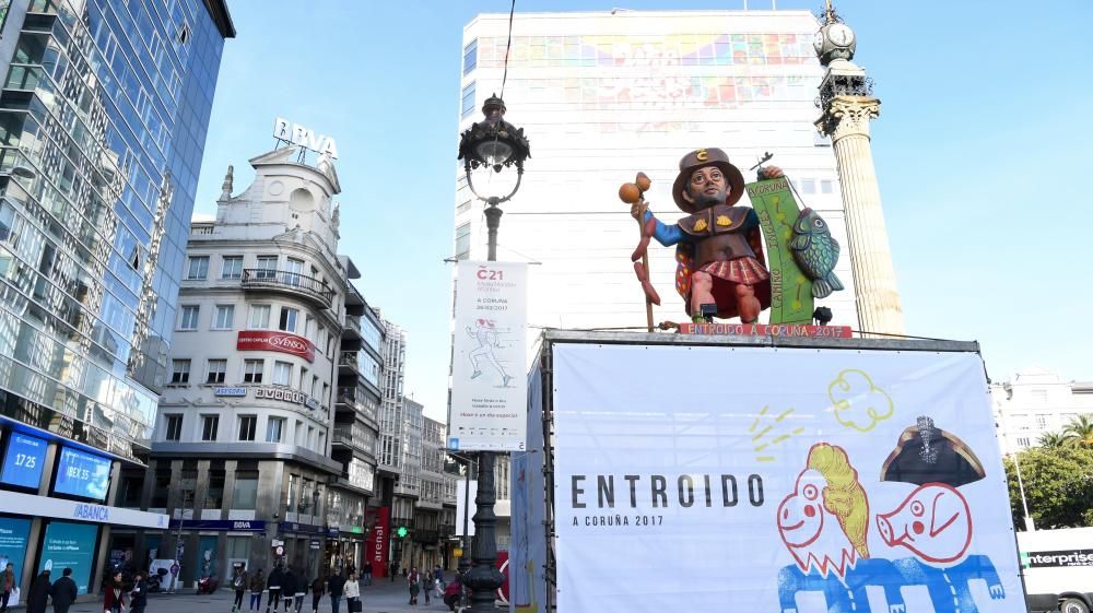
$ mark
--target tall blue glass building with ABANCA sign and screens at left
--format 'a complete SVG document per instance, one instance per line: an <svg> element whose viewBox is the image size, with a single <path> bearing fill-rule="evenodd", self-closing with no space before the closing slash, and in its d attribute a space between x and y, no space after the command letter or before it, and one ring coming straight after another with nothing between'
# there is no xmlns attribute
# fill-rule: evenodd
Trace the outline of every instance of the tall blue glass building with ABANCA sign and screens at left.
<svg viewBox="0 0 1093 613"><path fill-rule="evenodd" d="M0 558L134 568L224 0L0 2ZM132 486L130 484L129 486ZM11 604L11 603L9 603Z"/></svg>

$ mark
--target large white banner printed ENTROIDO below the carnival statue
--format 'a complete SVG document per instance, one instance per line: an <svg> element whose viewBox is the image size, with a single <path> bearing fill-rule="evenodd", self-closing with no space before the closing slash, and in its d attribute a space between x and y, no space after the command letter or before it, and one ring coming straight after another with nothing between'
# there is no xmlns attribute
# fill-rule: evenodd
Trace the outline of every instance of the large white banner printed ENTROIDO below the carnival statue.
<svg viewBox="0 0 1093 613"><path fill-rule="evenodd" d="M1024 613L969 353L554 345L557 609Z"/></svg>

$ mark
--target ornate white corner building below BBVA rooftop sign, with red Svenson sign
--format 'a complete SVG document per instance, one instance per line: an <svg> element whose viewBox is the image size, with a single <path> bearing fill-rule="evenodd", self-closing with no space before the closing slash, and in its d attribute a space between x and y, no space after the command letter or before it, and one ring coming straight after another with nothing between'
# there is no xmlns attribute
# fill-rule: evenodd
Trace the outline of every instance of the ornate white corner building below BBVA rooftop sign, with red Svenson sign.
<svg viewBox="0 0 1093 613"><path fill-rule="evenodd" d="M236 562L269 569L273 540L314 574L350 530L331 532L330 505L345 507L340 522L363 523L348 498L374 488L374 457L332 457L348 293L362 314L355 268L337 254L341 187L329 160L296 154L250 160L256 177L238 196L230 169L215 220L191 226L145 502L173 518L145 541L174 551L180 532L184 576L210 561L220 576Z"/></svg>

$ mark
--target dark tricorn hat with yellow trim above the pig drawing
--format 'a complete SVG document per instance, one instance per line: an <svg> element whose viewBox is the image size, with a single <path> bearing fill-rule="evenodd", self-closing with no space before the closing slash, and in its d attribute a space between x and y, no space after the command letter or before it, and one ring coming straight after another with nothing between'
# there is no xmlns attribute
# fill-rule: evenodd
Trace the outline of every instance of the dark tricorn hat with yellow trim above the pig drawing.
<svg viewBox="0 0 1093 613"><path fill-rule="evenodd" d="M947 483L960 487L986 476L983 463L963 440L918 417L903 431L895 449L881 467L881 481L922 485Z"/></svg>

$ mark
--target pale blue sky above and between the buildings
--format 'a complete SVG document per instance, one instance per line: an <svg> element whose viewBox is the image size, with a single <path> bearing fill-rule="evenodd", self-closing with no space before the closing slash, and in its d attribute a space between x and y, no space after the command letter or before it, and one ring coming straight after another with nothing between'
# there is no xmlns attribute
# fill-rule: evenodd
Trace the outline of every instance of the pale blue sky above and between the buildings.
<svg viewBox="0 0 1093 613"><path fill-rule="evenodd" d="M368 302L409 333L407 392L443 419L450 271L442 260L453 240L462 26L507 13L509 2L228 5L238 37L225 45L195 212L215 212L228 164L236 192L249 185L247 160L272 149L275 117L334 137L340 251L361 269ZM517 0L518 13L614 7L740 9L743 0ZM908 332L979 341L994 380L1032 365L1093 380L1093 2L836 8L882 101L873 156ZM519 125L519 109L507 119Z"/></svg>

